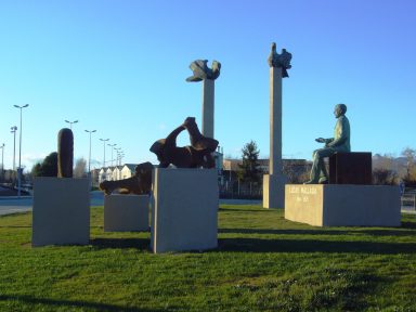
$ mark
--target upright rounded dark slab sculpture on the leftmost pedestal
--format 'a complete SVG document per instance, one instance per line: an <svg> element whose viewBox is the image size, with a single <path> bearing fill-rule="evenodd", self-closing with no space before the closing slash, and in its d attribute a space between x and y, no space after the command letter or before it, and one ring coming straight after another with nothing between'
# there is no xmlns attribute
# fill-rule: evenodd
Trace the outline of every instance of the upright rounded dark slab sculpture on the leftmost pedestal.
<svg viewBox="0 0 416 312"><path fill-rule="evenodd" d="M57 178L73 178L74 134L68 128L57 133Z"/></svg>

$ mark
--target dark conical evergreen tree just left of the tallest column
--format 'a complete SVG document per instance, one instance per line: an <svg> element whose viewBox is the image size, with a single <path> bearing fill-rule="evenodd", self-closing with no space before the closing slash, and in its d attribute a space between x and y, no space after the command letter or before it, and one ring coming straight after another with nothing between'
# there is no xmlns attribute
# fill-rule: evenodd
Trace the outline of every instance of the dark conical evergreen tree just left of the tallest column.
<svg viewBox="0 0 416 312"><path fill-rule="evenodd" d="M259 164L260 151L255 141L250 141L244 145L243 150L243 164L238 165L237 171L238 180L244 182L259 182L261 178L261 170Z"/></svg>

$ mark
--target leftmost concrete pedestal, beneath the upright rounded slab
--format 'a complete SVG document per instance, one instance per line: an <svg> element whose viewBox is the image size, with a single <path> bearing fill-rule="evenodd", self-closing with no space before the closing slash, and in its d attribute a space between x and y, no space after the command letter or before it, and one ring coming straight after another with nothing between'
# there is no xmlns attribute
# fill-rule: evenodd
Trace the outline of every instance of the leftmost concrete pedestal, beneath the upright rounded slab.
<svg viewBox="0 0 416 312"><path fill-rule="evenodd" d="M31 245L87 245L89 240L90 180L36 178Z"/></svg>

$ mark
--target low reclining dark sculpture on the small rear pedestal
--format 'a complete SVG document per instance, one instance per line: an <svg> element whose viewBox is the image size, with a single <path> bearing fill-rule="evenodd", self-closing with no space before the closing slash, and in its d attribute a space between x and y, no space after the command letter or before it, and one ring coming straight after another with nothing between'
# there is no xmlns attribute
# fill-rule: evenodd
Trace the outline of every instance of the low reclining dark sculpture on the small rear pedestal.
<svg viewBox="0 0 416 312"><path fill-rule="evenodd" d="M122 194L144 195L150 194L152 188L152 170L151 162L143 162L135 166L135 174L131 178L116 181L104 181L100 183L100 190L105 195L112 194L115 190L121 190Z"/></svg>

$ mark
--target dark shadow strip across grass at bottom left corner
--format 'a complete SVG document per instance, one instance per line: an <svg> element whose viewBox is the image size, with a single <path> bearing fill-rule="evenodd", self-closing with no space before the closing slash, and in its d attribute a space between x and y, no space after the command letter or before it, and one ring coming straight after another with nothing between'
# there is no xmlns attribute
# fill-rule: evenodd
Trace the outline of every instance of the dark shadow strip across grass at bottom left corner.
<svg viewBox="0 0 416 312"><path fill-rule="evenodd" d="M115 312L115 311L130 311L130 312L141 312L141 311L162 311L162 310L150 310L150 309L139 309L139 308L129 308L120 307L114 304L99 303L99 302L87 302L87 301L70 301L70 300L56 300L56 299L46 299L46 298L35 298L30 296L21 296L21 295L0 295L1 301L18 301L26 304L43 304L43 308L50 307L67 307L69 309L74 308L84 308L84 309L94 309L95 311L104 312Z"/></svg>

